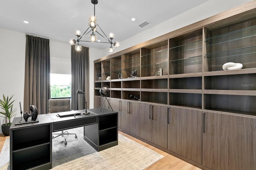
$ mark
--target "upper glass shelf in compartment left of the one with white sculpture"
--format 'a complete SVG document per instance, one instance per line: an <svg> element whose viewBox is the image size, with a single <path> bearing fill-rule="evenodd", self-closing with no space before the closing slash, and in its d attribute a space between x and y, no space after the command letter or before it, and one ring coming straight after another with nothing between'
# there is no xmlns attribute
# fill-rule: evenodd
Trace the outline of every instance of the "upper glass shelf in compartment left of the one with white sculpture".
<svg viewBox="0 0 256 170"><path fill-rule="evenodd" d="M202 40L169 48L169 50L175 51L176 53L192 51L196 49L202 49Z"/></svg>

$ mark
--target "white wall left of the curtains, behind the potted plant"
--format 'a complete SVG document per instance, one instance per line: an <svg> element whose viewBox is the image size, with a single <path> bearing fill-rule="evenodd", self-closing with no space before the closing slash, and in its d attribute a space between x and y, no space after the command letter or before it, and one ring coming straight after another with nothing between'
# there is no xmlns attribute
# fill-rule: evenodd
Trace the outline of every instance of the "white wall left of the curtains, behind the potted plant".
<svg viewBox="0 0 256 170"><path fill-rule="evenodd" d="M16 116L20 116L19 102L24 101L25 52L25 34L0 28L0 99L3 94L14 95ZM0 122L4 124L4 118Z"/></svg>

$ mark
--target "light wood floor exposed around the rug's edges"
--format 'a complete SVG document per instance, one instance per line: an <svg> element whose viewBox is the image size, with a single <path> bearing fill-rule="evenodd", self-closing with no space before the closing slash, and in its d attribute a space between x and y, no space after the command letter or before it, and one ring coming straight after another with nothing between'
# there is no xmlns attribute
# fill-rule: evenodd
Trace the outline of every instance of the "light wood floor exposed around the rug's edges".
<svg viewBox="0 0 256 170"><path fill-rule="evenodd" d="M146 170L200 170L200 168L197 168L196 166L193 166L191 164L188 164L187 162L184 162L183 160L180 160L158 148L155 148L154 146L151 146L145 142L142 142L132 136L129 136L128 134L125 134L123 132L118 131L120 134L126 136L127 138L130 138L134 140L135 142L138 142L139 144L142 144L146 146L147 148L150 148L154 150L155 152L162 154L164 157L148 168ZM4 141L8 136L4 136L3 134L0 134L0 152L3 148Z"/></svg>

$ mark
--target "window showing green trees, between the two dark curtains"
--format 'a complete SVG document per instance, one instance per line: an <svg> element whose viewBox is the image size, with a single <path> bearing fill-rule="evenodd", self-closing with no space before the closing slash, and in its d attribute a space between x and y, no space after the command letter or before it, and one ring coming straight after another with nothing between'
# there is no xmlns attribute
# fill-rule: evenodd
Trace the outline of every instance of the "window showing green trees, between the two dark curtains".
<svg viewBox="0 0 256 170"><path fill-rule="evenodd" d="M71 74L50 73L51 98L71 98Z"/></svg>

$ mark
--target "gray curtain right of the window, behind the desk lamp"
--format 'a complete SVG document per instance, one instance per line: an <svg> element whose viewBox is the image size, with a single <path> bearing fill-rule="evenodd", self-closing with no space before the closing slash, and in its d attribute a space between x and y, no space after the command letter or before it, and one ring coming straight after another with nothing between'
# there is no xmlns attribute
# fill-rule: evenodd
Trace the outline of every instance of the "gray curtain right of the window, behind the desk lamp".
<svg viewBox="0 0 256 170"><path fill-rule="evenodd" d="M75 46L71 46L71 109L85 109L84 96L76 94L78 89L85 92L87 109L90 105L89 96L89 48L83 47L81 51L76 51Z"/></svg>

